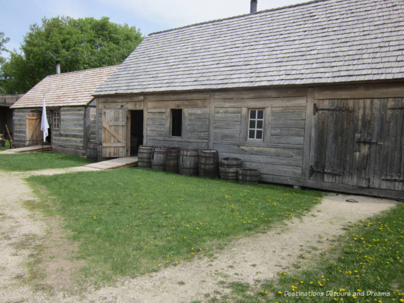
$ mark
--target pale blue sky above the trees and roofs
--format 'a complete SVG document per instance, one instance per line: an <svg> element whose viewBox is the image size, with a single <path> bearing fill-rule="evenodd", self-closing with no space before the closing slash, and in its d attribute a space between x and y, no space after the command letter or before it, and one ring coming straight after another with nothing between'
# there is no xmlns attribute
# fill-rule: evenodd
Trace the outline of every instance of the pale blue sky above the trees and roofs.
<svg viewBox="0 0 404 303"><path fill-rule="evenodd" d="M258 0L258 10L293 5L304 0ZM152 32L249 13L249 0L1 0L0 32L19 52L31 24L43 17L73 18L107 16L110 21ZM3 54L7 57L7 54Z"/></svg>

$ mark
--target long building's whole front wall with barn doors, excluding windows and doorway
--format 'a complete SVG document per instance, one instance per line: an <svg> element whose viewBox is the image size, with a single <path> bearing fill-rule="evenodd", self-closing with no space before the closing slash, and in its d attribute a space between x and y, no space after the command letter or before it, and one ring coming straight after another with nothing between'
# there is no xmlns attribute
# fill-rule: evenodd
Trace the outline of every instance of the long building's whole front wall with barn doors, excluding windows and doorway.
<svg viewBox="0 0 404 303"><path fill-rule="evenodd" d="M404 194L404 83L372 87L106 96L97 99L95 137L99 144L101 111L143 109L143 144L213 148L220 158L240 158L243 167L259 169L261 181L399 197ZM182 109L181 137L171 135L172 109ZM264 110L262 139L248 138L250 109Z"/></svg>

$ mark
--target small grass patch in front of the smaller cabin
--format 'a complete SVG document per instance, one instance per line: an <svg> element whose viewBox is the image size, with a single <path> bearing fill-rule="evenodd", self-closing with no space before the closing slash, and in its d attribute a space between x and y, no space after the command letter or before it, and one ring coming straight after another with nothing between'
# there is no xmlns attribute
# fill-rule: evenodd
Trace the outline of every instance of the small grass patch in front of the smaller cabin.
<svg viewBox="0 0 404 303"><path fill-rule="evenodd" d="M0 155L0 170L29 171L47 168L65 168L88 164L86 158L45 151Z"/></svg>

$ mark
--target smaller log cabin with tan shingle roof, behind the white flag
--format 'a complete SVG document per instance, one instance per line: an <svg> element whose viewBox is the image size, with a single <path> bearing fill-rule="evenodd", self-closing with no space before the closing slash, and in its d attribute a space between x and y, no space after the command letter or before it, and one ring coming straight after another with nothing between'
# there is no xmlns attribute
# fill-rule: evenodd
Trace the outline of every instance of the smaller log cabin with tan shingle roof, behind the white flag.
<svg viewBox="0 0 404 303"><path fill-rule="evenodd" d="M46 140L52 149L96 158L96 108L91 94L116 69L117 66L109 66L45 77L11 107L15 145L41 144L45 99L50 126Z"/></svg>

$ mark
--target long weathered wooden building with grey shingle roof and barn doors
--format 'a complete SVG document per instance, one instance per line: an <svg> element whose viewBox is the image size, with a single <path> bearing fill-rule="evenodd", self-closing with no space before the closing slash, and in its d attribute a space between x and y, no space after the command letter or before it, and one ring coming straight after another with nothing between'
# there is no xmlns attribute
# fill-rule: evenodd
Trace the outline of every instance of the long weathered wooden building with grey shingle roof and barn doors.
<svg viewBox="0 0 404 303"><path fill-rule="evenodd" d="M403 16L323 0L150 34L93 94L98 158L135 153L135 132L261 181L402 199Z"/></svg>

